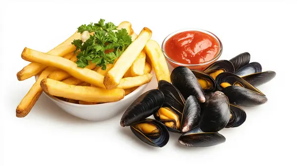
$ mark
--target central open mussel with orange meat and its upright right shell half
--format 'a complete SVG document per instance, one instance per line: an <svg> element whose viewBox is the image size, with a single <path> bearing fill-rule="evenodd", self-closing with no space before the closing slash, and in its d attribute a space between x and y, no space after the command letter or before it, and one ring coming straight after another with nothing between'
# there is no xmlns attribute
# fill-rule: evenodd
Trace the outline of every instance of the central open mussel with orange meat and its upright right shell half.
<svg viewBox="0 0 297 166"><path fill-rule="evenodd" d="M165 124L169 131L183 133L197 126L200 119L201 108L195 96L189 96L182 111L171 107L162 107L155 114L157 121Z"/></svg>

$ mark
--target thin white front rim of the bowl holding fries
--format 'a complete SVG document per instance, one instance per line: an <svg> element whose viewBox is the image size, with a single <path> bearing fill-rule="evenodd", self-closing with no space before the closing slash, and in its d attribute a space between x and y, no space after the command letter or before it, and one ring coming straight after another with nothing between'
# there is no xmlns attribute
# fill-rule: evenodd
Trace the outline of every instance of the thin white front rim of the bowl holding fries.
<svg viewBox="0 0 297 166"><path fill-rule="evenodd" d="M150 74L152 74L152 77L154 76L154 71L153 71L153 68L151 67L151 71L150 71ZM38 79L38 75L35 76L35 80ZM148 83L151 83L148 82ZM43 93L48 96L50 99L58 102L58 103L61 103L61 104L64 104L64 105L70 105L70 106L78 106L78 107L94 107L94 106L101 106L101 105L108 105L108 104L116 104L116 103L120 103L120 102L124 102L124 100L127 100L128 98L131 98L133 95L135 95L135 93L139 92L141 89L145 88L145 86L148 85L148 83L146 84L143 84L141 86L139 86L137 89L135 89L133 92L129 93L128 95L125 95L124 98L122 98L121 100L118 100L118 101L113 101L113 102L107 102L107 103L99 103L99 104L77 104L77 103L70 103L70 102L67 102L67 101L64 101L64 100L61 100L55 96L52 96L52 95L49 95L48 93L46 93L45 91L43 91Z"/></svg>

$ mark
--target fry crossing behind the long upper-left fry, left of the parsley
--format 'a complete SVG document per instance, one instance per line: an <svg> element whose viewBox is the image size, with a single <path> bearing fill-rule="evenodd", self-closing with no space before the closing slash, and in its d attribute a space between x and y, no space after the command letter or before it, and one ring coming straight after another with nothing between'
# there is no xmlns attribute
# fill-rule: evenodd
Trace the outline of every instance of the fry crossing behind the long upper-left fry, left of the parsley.
<svg viewBox="0 0 297 166"><path fill-rule="evenodd" d="M73 51L75 51L76 47L71 44L73 40L80 39L81 34L78 32L75 32L71 37L69 37L66 41L60 43L53 49L51 49L49 52L47 52L50 55L57 55L57 56L64 56L67 55ZM47 65L42 65L39 63L30 63L29 65L25 66L21 71L19 71L16 76L19 81L26 80L28 78L31 78L32 76L37 75L38 73L42 72Z"/></svg>

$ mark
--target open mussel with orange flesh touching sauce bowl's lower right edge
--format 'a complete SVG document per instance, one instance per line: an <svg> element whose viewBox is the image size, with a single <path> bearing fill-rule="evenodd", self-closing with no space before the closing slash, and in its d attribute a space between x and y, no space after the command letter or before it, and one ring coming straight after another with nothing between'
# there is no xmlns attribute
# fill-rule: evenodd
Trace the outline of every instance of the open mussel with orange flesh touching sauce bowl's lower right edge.
<svg viewBox="0 0 297 166"><path fill-rule="evenodd" d="M203 72L215 79L217 75L223 72L234 73L234 66L228 60L219 60L210 64Z"/></svg>

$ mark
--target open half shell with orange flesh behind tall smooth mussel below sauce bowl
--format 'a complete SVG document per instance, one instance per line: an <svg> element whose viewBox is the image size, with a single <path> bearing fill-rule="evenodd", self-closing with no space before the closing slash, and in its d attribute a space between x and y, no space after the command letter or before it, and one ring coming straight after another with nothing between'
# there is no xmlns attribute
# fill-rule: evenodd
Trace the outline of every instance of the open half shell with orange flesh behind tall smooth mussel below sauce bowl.
<svg viewBox="0 0 297 166"><path fill-rule="evenodd" d="M210 77L208 74L196 71L196 70L192 70L192 72L194 73L195 77L198 79L198 82L200 83L200 81L202 81L202 83L200 83L204 93L210 93L213 92L216 89L216 82L215 80ZM205 85L206 83L206 85ZM210 86L207 86L207 84L210 84Z"/></svg>

